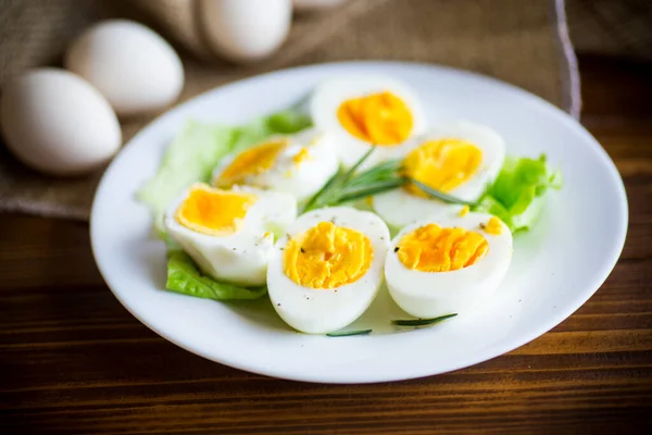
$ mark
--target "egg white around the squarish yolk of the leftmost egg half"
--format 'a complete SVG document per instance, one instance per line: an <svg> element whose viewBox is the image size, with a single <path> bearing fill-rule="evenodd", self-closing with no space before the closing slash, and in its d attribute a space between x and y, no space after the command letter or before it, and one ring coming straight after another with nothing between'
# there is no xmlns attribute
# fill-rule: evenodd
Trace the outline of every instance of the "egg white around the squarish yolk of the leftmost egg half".
<svg viewBox="0 0 652 435"><path fill-rule="evenodd" d="M274 237L293 222L297 200L288 194L238 187L258 196L242 219L241 228L227 236L195 232L179 224L175 213L187 198L181 195L167 210L167 234L188 253L201 271L217 281L242 286L265 284L267 263L274 253Z"/></svg>

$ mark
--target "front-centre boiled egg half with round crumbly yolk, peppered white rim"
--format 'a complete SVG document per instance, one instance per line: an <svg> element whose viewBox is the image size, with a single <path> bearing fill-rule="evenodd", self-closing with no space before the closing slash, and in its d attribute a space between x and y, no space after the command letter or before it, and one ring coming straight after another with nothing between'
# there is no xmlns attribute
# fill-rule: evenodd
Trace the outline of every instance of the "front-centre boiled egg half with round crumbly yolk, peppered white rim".
<svg viewBox="0 0 652 435"><path fill-rule="evenodd" d="M305 213L276 244L267 269L274 309L296 330L324 334L358 319L383 283L389 232L348 207Z"/></svg>

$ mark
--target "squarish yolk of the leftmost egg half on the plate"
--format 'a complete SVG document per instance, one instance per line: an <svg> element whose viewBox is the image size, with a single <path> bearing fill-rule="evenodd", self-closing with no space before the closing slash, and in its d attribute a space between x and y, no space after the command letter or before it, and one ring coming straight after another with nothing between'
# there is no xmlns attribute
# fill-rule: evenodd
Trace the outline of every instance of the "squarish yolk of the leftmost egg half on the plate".
<svg viewBox="0 0 652 435"><path fill-rule="evenodd" d="M175 219L197 233L227 236L240 229L242 217L256 200L253 194L197 185L177 209Z"/></svg>

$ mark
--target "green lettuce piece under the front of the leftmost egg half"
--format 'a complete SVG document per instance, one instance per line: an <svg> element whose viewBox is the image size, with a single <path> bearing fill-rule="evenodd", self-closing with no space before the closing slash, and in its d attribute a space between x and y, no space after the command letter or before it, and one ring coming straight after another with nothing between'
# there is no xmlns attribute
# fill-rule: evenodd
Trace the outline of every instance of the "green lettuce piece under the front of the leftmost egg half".
<svg viewBox="0 0 652 435"><path fill-rule="evenodd" d="M172 250L167 254L165 288L197 298L214 300L258 299L267 294L266 286L240 287L203 275L192 259L181 250Z"/></svg>

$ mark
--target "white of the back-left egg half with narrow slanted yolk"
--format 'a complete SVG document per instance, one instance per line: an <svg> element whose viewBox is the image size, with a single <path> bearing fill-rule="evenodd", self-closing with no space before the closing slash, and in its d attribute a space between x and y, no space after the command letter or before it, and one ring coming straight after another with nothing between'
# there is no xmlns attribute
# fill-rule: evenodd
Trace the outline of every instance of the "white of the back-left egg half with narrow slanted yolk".
<svg viewBox="0 0 652 435"><path fill-rule="evenodd" d="M279 153L272 167L261 174L247 176L244 184L285 191L294 196L298 201L303 201L316 194L336 173L339 166L337 148L330 136L314 128L296 135L273 136L261 144L279 138L289 141L287 148ZM309 157L294 163L292 159L304 147ZM217 179L237 157L238 153L234 153L222 159L213 171L213 179Z"/></svg>

